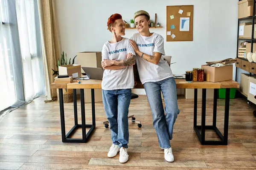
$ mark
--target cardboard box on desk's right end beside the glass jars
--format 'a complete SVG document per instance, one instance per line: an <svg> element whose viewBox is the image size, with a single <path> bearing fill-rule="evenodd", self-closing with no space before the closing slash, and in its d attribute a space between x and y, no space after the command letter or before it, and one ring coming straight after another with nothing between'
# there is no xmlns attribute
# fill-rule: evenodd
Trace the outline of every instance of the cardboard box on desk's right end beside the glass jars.
<svg viewBox="0 0 256 170"><path fill-rule="evenodd" d="M221 82L233 79L233 65L223 67L202 65L201 68L204 68L204 79L208 82Z"/></svg>

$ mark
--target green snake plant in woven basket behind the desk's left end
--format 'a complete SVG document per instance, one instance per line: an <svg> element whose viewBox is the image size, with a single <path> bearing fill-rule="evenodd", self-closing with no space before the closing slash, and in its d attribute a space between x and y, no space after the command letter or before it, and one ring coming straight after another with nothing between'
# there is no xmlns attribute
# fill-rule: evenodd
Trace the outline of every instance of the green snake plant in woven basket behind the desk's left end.
<svg viewBox="0 0 256 170"><path fill-rule="evenodd" d="M77 55L76 55L77 56ZM73 61L72 61L72 64L75 63L75 58L76 56L73 58ZM58 66L61 66L61 65L69 65L71 64L71 58L69 59L69 61L67 60L67 54L66 54L66 59L64 57L64 51L62 51L62 54L61 54L61 62L60 60L58 59L58 64L57 64L57 67ZM56 75L58 76L58 70L53 70L53 76ZM73 102L73 90L72 89L62 89L63 91L63 102L64 103L69 103L69 102ZM58 89L57 89L57 101L59 102L59 93L58 93Z"/></svg>

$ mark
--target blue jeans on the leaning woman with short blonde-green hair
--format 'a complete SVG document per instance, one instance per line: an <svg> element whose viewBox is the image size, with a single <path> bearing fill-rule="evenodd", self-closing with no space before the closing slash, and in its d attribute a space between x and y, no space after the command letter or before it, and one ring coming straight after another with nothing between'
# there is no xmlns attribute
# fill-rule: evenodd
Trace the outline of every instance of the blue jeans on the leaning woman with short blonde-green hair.
<svg viewBox="0 0 256 170"><path fill-rule="evenodd" d="M173 125L180 113L177 104L176 83L173 77L159 82L146 82L144 88L148 97L148 102L152 111L153 126L157 132L158 142L161 148L171 147ZM165 102L165 112L163 102Z"/></svg>

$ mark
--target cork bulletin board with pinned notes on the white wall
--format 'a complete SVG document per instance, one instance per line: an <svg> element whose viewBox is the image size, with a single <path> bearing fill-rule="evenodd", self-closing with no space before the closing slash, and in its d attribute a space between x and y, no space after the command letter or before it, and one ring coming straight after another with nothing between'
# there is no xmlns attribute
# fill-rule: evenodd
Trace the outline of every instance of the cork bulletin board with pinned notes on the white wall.
<svg viewBox="0 0 256 170"><path fill-rule="evenodd" d="M166 6L166 40L193 41L194 6Z"/></svg>

